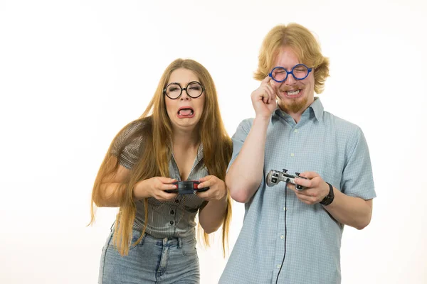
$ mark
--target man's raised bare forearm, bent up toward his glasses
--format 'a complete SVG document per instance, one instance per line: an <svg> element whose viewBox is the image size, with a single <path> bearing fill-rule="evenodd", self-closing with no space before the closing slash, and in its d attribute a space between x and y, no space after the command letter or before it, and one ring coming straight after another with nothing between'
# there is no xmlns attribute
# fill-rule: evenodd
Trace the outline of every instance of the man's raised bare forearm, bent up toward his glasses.
<svg viewBox="0 0 427 284"><path fill-rule="evenodd" d="M248 202L263 179L265 137L270 118L255 118L243 147L226 175L231 197Z"/></svg>

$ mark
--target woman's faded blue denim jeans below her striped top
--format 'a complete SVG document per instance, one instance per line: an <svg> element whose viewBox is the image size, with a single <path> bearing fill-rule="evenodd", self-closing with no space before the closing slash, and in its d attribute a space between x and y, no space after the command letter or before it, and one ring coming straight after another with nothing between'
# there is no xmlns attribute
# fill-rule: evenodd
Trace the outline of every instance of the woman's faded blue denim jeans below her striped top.
<svg viewBox="0 0 427 284"><path fill-rule="evenodd" d="M121 256L112 242L112 234L102 249L99 284L112 283L200 283L196 238L154 239L133 230L132 246Z"/></svg>

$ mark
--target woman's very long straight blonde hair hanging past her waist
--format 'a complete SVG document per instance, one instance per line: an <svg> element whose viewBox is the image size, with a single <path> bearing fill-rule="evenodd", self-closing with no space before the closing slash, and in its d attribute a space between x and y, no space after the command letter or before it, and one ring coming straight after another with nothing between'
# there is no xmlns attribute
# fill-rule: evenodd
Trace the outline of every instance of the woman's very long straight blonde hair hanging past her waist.
<svg viewBox="0 0 427 284"><path fill-rule="evenodd" d="M169 77L179 68L191 70L199 77L200 83L205 88L205 104L204 112L199 121L199 141L203 144L204 148L204 165L206 166L209 175L215 175L221 180L226 178L226 169L228 162L231 159L233 145L231 138L226 133L226 129L221 119L221 113L218 105L218 97L214 80L208 70L199 62L194 60L177 59L172 62L164 71L154 97L149 102L147 109L145 109L142 116L136 121L132 121L125 126L115 139L113 139L110 148L105 155L104 160L100 166L100 170L95 178L92 192L92 205L91 205L91 224L95 221L93 204L100 206L98 200L102 200L101 184L104 182L105 177L111 176L115 173L119 166L120 154L125 146L135 141L135 139L143 139L141 147L139 148L139 160L132 168L130 178L127 182L123 182L117 186L116 190L123 191L120 195L120 210L117 213L115 222L114 243L117 250L122 255L127 255L131 245L132 227L136 216L136 205L133 200L133 188L140 180L146 180L156 176L169 177L169 159L172 157L172 126L169 116L167 115L163 89L166 87ZM117 137L132 127L138 125L135 131L132 131L122 146L118 149L118 153L112 154L115 141ZM142 235L137 242L142 238L144 231L147 228L148 222L148 200L144 199L145 221ZM227 196L227 209L222 224L222 244L223 253L225 256L226 247L228 246L228 230L231 222L231 197L228 193ZM120 226L118 226L120 224ZM199 223L199 234L203 229ZM209 246L209 234L203 231L204 244Z"/></svg>

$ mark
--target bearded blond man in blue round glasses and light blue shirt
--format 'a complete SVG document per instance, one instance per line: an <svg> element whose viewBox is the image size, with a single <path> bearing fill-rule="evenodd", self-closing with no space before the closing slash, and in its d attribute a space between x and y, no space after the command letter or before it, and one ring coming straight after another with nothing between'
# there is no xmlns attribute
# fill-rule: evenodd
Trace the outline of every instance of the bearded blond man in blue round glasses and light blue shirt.
<svg viewBox="0 0 427 284"><path fill-rule="evenodd" d="M220 283L341 282L344 225L367 226L376 195L362 130L324 111L314 95L328 75L307 28L276 26L265 37L255 72L262 82L251 94L255 119L233 136L226 185L245 203L245 219ZM270 170L284 168L302 178L267 186Z"/></svg>

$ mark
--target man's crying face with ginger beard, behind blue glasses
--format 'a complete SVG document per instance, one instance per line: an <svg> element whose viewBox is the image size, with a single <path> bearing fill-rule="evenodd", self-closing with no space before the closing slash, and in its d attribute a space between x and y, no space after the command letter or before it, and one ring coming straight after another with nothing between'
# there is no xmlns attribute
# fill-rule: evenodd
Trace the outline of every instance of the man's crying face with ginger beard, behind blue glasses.
<svg viewBox="0 0 427 284"><path fill-rule="evenodd" d="M292 70L300 60L293 52L292 48L285 46L280 49L278 57L275 60L275 67L284 67L288 72ZM312 66L308 66L312 67ZM278 96L278 104L280 109L288 114L302 114L307 107L315 100L315 75L314 68L303 80L296 80L291 74L285 82L275 82L271 80L271 84L275 87L276 95Z"/></svg>

